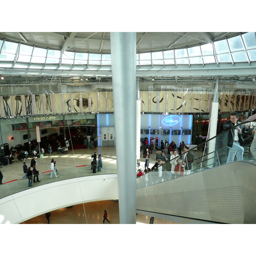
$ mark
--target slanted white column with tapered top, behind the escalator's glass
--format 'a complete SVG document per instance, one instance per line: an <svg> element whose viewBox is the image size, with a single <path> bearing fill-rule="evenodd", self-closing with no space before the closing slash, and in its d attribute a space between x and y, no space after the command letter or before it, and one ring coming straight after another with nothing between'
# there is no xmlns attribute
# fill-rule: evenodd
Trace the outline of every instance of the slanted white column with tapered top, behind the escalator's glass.
<svg viewBox="0 0 256 256"><path fill-rule="evenodd" d="M214 96L213 96L211 109L210 109L207 140L216 136L217 123L218 123L218 105L219 105L219 103L218 103L218 77L217 77L216 84L215 84ZM216 139L209 141L208 153L215 151L215 145L216 145ZM209 160L207 161L207 165L209 168L213 167L212 164L216 161L216 159L214 159L214 156L215 156L214 153L208 155Z"/></svg>

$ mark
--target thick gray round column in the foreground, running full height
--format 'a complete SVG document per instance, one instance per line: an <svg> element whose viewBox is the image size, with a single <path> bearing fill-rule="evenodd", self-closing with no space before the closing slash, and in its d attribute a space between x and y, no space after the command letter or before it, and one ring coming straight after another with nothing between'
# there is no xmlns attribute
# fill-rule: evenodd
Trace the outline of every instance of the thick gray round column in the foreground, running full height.
<svg viewBox="0 0 256 256"><path fill-rule="evenodd" d="M111 32L120 224L136 224L136 32Z"/></svg>

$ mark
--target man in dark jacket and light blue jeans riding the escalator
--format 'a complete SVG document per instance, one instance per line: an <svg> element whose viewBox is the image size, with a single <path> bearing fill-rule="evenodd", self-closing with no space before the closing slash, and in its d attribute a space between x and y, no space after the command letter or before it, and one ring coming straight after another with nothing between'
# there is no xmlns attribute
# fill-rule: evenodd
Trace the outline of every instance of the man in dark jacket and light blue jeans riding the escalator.
<svg viewBox="0 0 256 256"><path fill-rule="evenodd" d="M228 132L227 147L230 148L230 151L228 153L227 163L233 162L235 155L238 161L243 160L244 148L242 145L244 143L244 139L242 137L241 128L237 126L238 124L241 124L241 122L238 122L238 119L239 114L237 112L232 112L230 114L230 120L227 120L224 124L225 131L233 128Z"/></svg>

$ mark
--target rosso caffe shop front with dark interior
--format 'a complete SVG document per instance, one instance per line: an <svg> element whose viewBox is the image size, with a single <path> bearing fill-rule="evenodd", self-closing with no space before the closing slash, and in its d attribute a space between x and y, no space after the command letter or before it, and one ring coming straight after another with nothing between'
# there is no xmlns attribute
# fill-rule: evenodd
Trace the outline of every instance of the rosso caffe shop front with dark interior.
<svg viewBox="0 0 256 256"><path fill-rule="evenodd" d="M37 127L39 129L37 129ZM37 131L38 130L38 131ZM9 148L32 150L38 145L45 150L51 144L53 151L66 141L73 149L87 148L84 140L97 140L97 119L94 114L55 114L17 116L0 119L0 144L5 145L1 154L9 154ZM6 147L8 145L8 147Z"/></svg>

